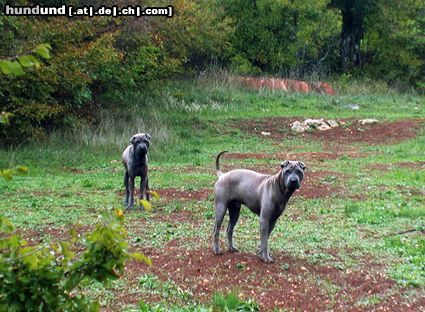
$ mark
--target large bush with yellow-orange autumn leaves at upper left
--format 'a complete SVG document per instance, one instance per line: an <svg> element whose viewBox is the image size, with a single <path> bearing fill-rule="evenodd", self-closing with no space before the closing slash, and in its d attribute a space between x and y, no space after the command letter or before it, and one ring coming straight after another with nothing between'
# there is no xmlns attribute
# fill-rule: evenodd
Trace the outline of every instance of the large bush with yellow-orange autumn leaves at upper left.
<svg viewBox="0 0 425 312"><path fill-rule="evenodd" d="M0 71L0 112L13 114L0 126L2 143L42 139L56 128L75 127L81 118L95 122L99 107L126 106L129 94L149 93L185 67L224 58L227 19L218 18L213 4L178 0L172 19L141 23L0 15L0 40L10 43L0 47L0 60L25 54L40 42L52 47L52 58L25 75Z"/></svg>

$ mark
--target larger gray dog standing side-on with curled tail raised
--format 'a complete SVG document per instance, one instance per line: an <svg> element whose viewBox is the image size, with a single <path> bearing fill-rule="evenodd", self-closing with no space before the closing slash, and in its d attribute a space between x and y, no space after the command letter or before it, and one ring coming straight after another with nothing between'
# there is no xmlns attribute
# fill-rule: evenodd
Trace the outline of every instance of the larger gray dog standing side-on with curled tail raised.
<svg viewBox="0 0 425 312"><path fill-rule="evenodd" d="M230 252L238 251L233 246L233 228L238 222L241 204L260 216L260 259L266 263L273 262L268 251L268 239L277 219L285 210L286 204L301 185L304 178L304 163L285 160L281 170L275 175L261 174L251 170L232 170L222 173L220 156L216 158L215 183L215 227L214 253L221 254L219 232L226 211L229 210L227 239Z"/></svg>

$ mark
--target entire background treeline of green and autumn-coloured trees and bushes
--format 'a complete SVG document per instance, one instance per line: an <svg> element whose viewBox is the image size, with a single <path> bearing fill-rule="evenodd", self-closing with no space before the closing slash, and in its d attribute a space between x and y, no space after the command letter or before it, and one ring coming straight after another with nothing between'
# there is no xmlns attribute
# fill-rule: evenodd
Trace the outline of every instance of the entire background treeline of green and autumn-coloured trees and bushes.
<svg viewBox="0 0 425 312"><path fill-rule="evenodd" d="M0 0L0 7L12 4ZM57 0L13 5L62 5ZM43 138L93 122L99 108L211 66L239 75L368 78L423 92L425 0L69 1L84 5L173 5L166 17L0 15L3 143ZM3 9L2 9L3 11ZM40 44L50 58L20 64ZM28 59L27 59L28 62ZM1 69L1 68L0 68ZM307 78L308 79L308 78Z"/></svg>

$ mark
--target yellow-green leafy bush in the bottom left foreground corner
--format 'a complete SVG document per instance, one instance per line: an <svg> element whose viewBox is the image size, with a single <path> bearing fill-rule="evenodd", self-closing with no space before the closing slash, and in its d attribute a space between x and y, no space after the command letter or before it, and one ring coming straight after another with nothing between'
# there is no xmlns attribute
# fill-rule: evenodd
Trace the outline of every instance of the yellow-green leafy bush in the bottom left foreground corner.
<svg viewBox="0 0 425 312"><path fill-rule="evenodd" d="M130 254L123 213L115 210L95 229L72 242L29 246L6 219L0 218L0 310L98 311L99 304L81 294L85 279L116 278L130 258L150 264L141 254Z"/></svg>

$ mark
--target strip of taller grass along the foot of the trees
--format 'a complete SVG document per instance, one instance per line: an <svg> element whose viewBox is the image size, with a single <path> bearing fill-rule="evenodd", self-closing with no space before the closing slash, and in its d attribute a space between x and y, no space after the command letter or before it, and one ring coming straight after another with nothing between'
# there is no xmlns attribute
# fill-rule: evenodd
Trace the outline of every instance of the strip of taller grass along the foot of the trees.
<svg viewBox="0 0 425 312"><path fill-rule="evenodd" d="M96 164L99 159L119 159L129 138L138 132L152 135L151 154L155 159L175 160L190 148L198 149L205 131L219 131L211 122L227 122L229 118L411 118L422 117L425 108L421 96L396 94L384 84L357 81L351 76L335 82L335 97L314 92L250 90L233 77L225 70L214 69L157 86L150 92L128 94L125 103L117 100L98 111L95 124L81 121L73 129L50 133L43 142L25 142L18 153L14 152L16 147L1 149L0 166ZM359 104L360 109L351 111L347 108L350 103ZM215 135L219 137L219 133Z"/></svg>

